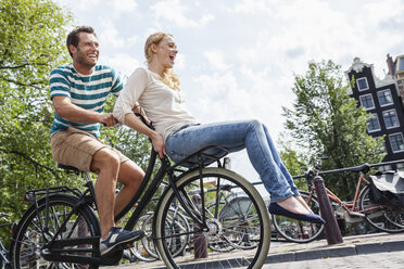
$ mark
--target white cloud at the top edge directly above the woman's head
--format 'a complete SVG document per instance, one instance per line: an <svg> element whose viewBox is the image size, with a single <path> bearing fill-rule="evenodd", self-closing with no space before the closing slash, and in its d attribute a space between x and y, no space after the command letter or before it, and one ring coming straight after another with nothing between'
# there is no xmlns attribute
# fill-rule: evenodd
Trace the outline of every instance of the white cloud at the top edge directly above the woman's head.
<svg viewBox="0 0 404 269"><path fill-rule="evenodd" d="M212 14L204 14L199 21L188 18L186 13L189 9L180 3L179 0L160 1L151 7L157 20L163 18L176 24L176 26L203 27L215 17Z"/></svg>

